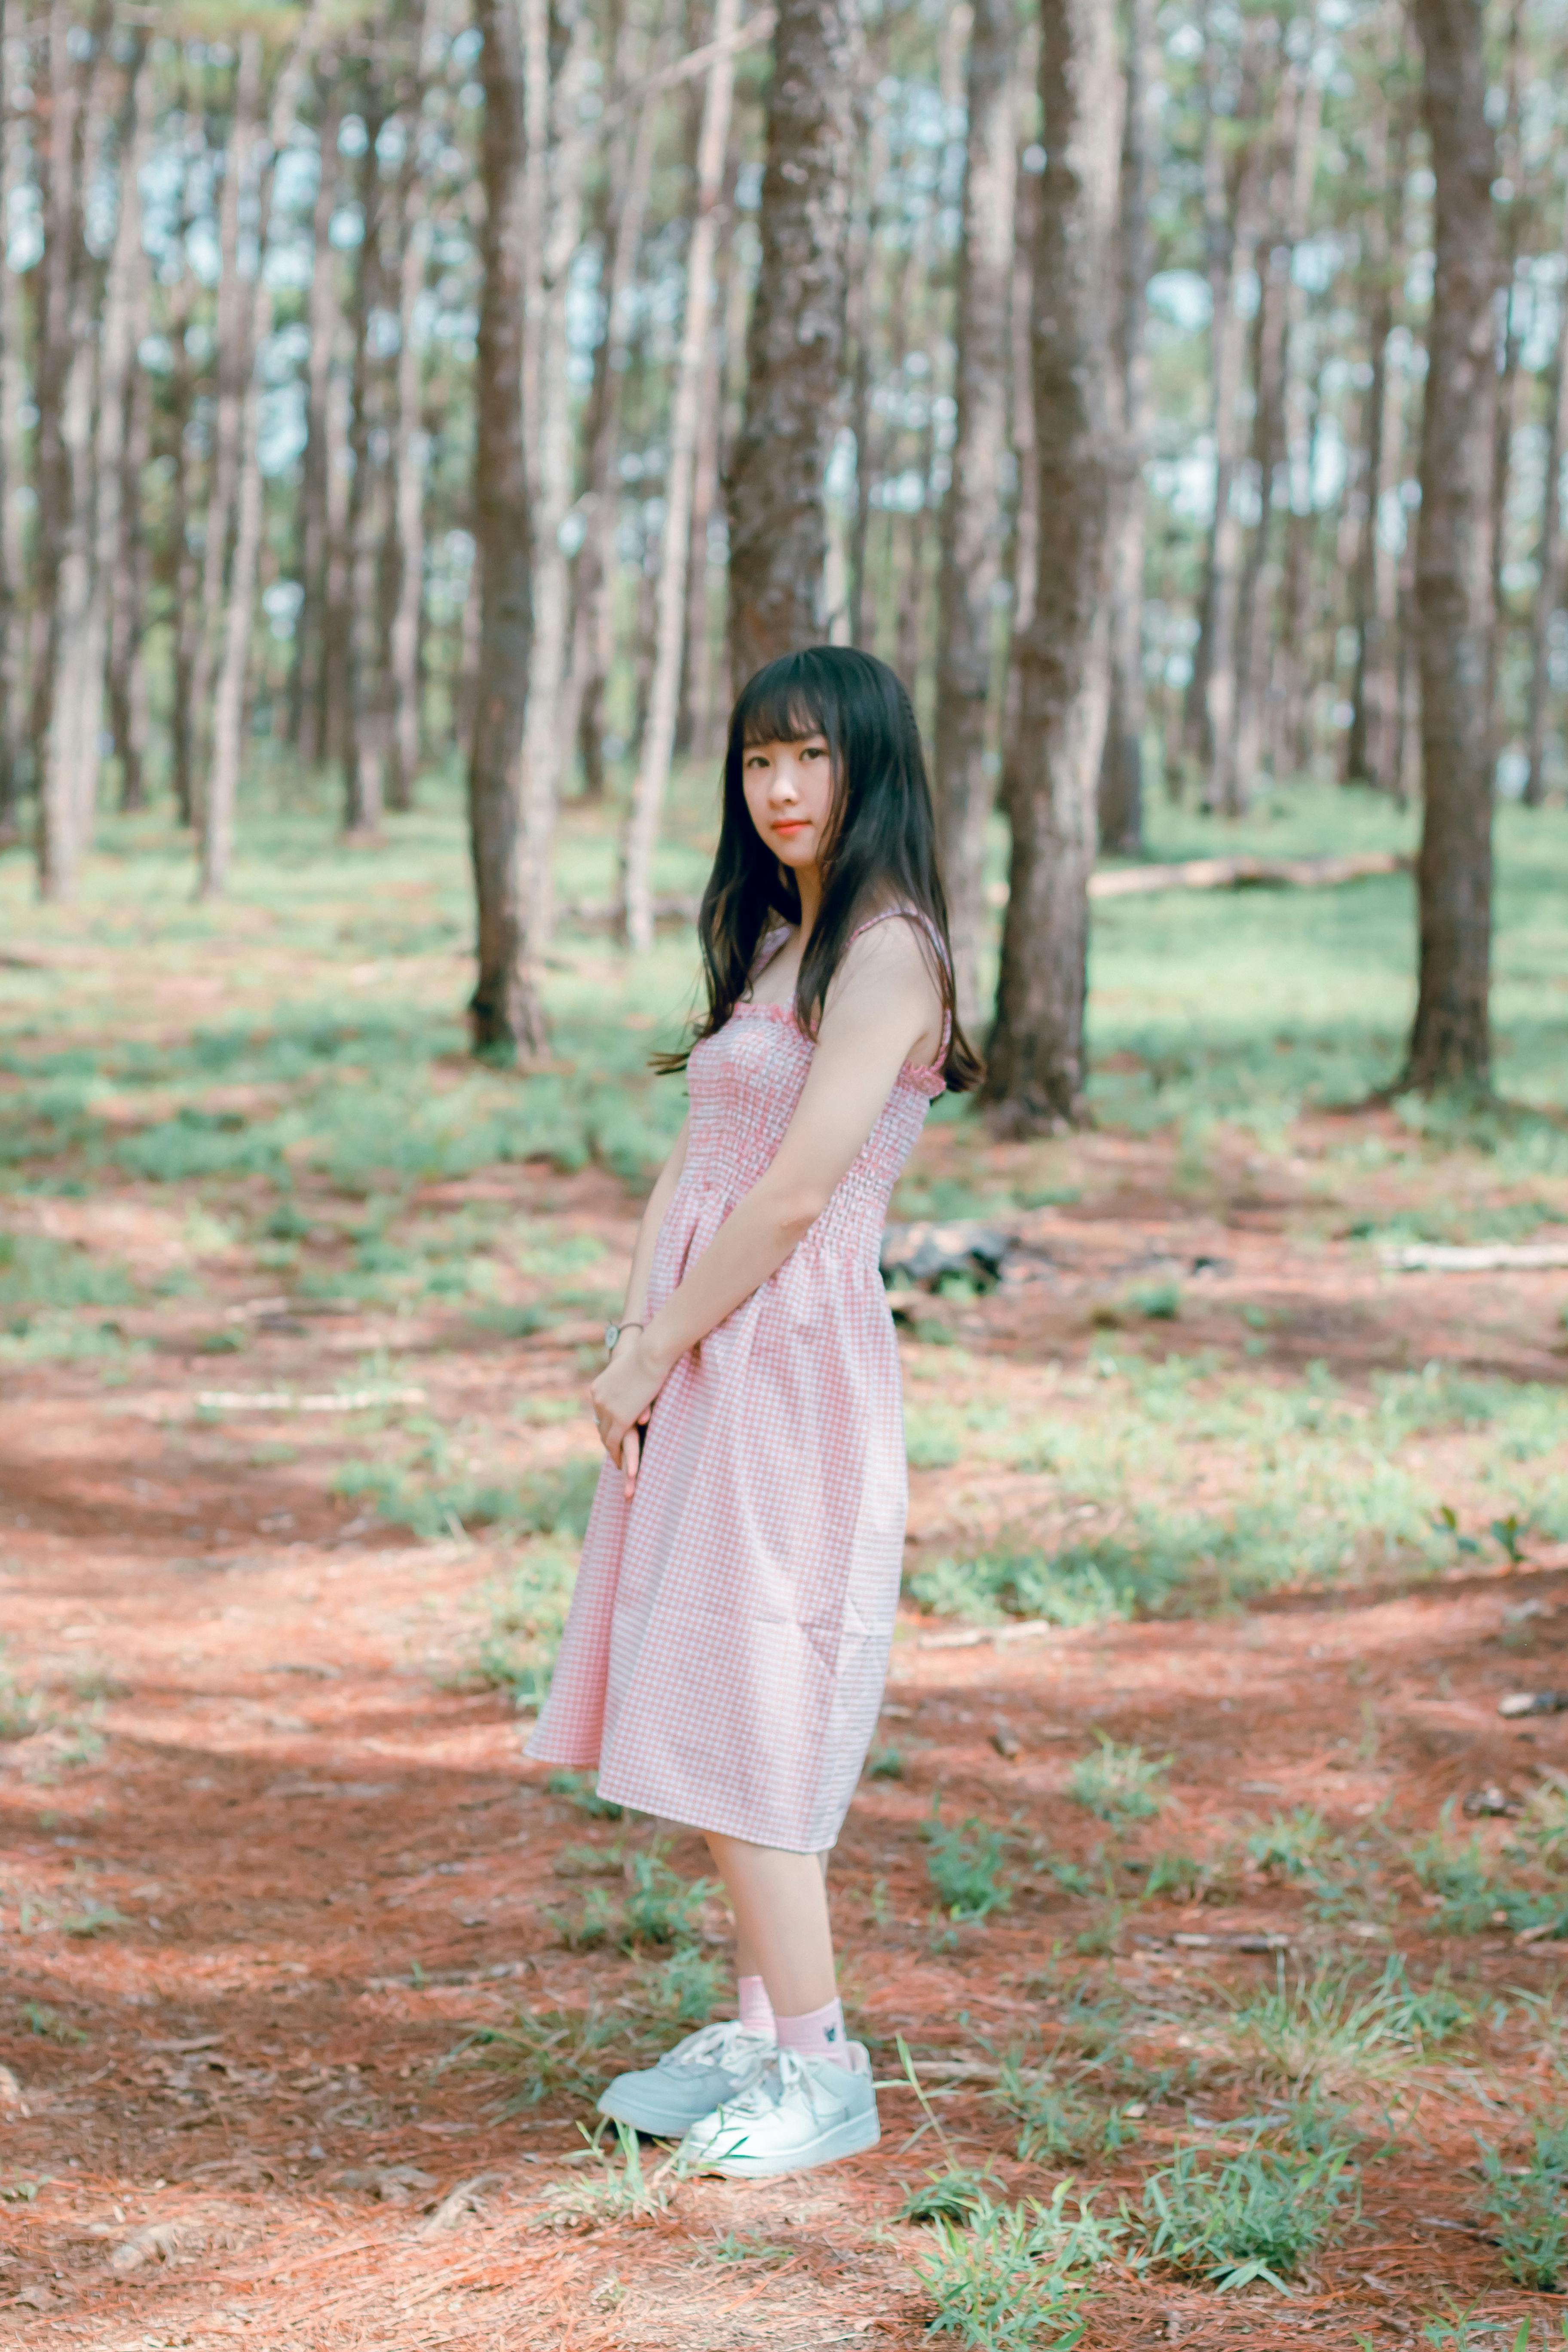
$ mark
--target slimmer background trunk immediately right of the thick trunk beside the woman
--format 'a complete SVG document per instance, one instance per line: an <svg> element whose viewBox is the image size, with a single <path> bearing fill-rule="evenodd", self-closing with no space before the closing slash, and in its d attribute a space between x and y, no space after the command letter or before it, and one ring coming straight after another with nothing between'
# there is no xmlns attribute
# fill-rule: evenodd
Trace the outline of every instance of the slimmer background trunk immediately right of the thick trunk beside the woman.
<svg viewBox="0 0 1568 2352"><path fill-rule="evenodd" d="M1143 459L1150 440L1150 193L1159 99L1154 0L1131 0L1126 21L1126 120L1117 238L1114 365L1121 376L1124 447L1112 510L1110 720L1100 762L1100 842L1143 856Z"/></svg>

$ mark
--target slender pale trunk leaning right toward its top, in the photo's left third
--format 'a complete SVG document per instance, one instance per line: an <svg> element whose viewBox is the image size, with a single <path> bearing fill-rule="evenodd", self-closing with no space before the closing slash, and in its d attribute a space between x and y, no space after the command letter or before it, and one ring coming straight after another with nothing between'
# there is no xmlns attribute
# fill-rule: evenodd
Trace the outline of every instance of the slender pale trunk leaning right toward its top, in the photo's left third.
<svg viewBox="0 0 1568 2352"><path fill-rule="evenodd" d="M249 673L252 635L256 628L256 581L261 569L261 529L266 520L259 447L259 374L261 350L273 318L273 299L266 282L268 216L277 155L294 134L294 115L299 113L306 68L315 49L317 24L320 0L306 9L306 21L296 35L294 49L280 68L268 120L266 160L256 176L256 275L247 292L244 320L240 329L244 339L247 369L235 426L235 553L223 600L223 640L212 703L212 771L202 795L202 873L197 884L202 898L216 898L223 894L228 887L228 861L233 856L240 764L244 755L244 682Z"/></svg>

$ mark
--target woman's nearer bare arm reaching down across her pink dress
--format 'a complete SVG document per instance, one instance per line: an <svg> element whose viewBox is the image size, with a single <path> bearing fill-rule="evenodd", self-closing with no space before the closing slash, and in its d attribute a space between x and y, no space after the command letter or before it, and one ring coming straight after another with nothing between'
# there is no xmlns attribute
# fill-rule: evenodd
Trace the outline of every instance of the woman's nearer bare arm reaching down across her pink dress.
<svg viewBox="0 0 1568 2352"><path fill-rule="evenodd" d="M771 1167L745 1192L646 1331L635 1331L592 1383L607 1451L621 1461L679 1357L724 1322L823 1214L863 1150L903 1063L940 1028L936 983L910 924L853 941L830 990L811 1075Z"/></svg>

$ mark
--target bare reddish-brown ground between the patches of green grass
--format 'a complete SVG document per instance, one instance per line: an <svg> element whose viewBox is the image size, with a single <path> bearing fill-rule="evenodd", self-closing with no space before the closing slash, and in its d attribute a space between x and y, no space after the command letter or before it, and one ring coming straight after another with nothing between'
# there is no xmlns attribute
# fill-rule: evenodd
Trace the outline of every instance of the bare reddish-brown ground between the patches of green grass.
<svg viewBox="0 0 1568 2352"><path fill-rule="evenodd" d="M971 1350L1072 1362L1088 1345L1095 1282L1161 1254L1213 1254L1229 1270L1185 1315L1180 1345L1204 1341L1211 1296L1215 1312L1232 1301L1232 1345L1237 1298L1288 1301L1276 1369L1321 1355L1356 1381L1448 1355L1563 1378L1542 1338L1542 1291L1556 1284L1556 1312L1568 1277L1467 1279L1455 1338L1453 1282L1389 1287L1345 1247L1300 1249L1279 1204L1173 1207L1147 1148L1128 1148L1112 1183L1117 1150L1095 1145L1093 1214L1053 1221L1048 1279L931 1308ZM529 1171L505 1183L531 1202ZM630 1209L614 1185L583 1181L569 1207L625 1247ZM52 1216L71 1209L49 1204ZM115 1214L136 1216L129 1195ZM235 1279L230 1301L244 1296ZM212 1294L200 1327L212 1327ZM362 1355L376 1343L376 1317L270 1331L242 1385L320 1385L327 1345ZM456 1421L501 1414L517 1388L567 1397L581 1367L555 1334L430 1352L421 1378L430 1411ZM929 2131L912 2145L922 2112L907 2089L884 2091L884 2145L851 2166L766 2187L691 2180L649 2220L550 2227L543 2190L583 2173L588 2105L552 2093L505 2112L501 2074L437 2063L520 2009L592 1999L630 2018L616 2002L635 1999L639 1962L574 1952L548 1917L578 1893L555 1870L562 1849L621 1832L550 1795L520 1759L508 1700L463 1677L498 1548L409 1545L334 1501L308 1458L256 1458L296 1437L280 1416L230 1416L219 1442L195 1421L195 1397L219 1385L223 1364L165 1338L122 1388L92 1367L28 1371L0 1423L7 1663L56 1717L73 1691L78 1719L89 1717L87 1733L56 1719L0 1748L0 2056L12 2070L0 2077L0 2343L912 2352L931 2317L914 2272L924 2234L893 2213L940 2152ZM917 1475L917 1548L940 1538L943 1498L940 1472ZM1150 2096L1128 2150L1088 2166L1100 2209L1114 2211L1117 2192L1135 2199L1152 2157L1185 2131L1213 2126L1222 2140L1258 2091L1213 2042L1215 1997L1276 1969L1267 1947L1237 1943L1286 1938L1291 1966L1385 1945L1356 1940L1354 1922L1309 1924L1298 1891L1253 1872L1222 1907L1147 1903L1110 1955L1079 1959L1091 1905L1025 1872L1011 1912L933 1950L917 1835L933 1790L947 1818L1018 1816L1081 1863L1105 1832L1063 1785L1093 1726L1175 1757L1164 1846L1201 1851L1239 1809L1262 1818L1295 1804L1321 1806L1340 1830L1385 1806L1394 1830L1425 1832L1448 1795L1512 1792L1568 1766L1568 1717L1497 1717L1500 1691L1523 1672L1500 1644L1521 1592L1544 1604L1528 1682L1568 1684L1563 1548L1537 1545L1514 1573L1465 1569L1420 1588L1286 1595L1208 1621L1001 1646L922 1646L912 1618L889 1686L905 1776L865 1780L832 1872L846 1997L879 2037L879 2074L896 2074L905 2034L954 2157L994 2157L1011 2192L1046 2194L1056 2171L1011 2161L985 2093L994 2049L1025 2032L1051 2039L1084 1976L1119 1987L1140 2058L1197 2067L1192 2089ZM696 1846L675 1860L701 1870ZM1403 1900L1396 1940L1422 1978L1448 1957L1474 1997L1542 1992L1561 1973L1561 1950L1505 1933L1446 1952L1420 1933L1420 1893ZM717 1907L710 1933L722 1933ZM1467 2173L1474 2131L1507 2133L1505 2074L1516 2091L1549 2086L1554 2051L1544 2034L1530 2044L1521 2016L1497 2020L1481 2056L1472 2044L1418 2070L1389 2152L1373 2140L1361 2218L1298 2293L1218 2296L1112 2265L1086 2345L1399 2345L1446 2298L1483 2298L1497 2321L1568 2310L1568 2298L1507 2288ZM1206 2122L1185 2124L1185 2107ZM778 2253L726 2258L726 2234Z"/></svg>

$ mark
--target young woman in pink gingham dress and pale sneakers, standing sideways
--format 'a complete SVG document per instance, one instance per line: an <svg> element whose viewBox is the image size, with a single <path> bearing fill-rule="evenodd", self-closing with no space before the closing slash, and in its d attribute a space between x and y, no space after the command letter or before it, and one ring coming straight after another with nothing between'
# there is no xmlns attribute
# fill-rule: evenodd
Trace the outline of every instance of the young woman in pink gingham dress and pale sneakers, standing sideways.
<svg viewBox="0 0 1568 2352"><path fill-rule="evenodd" d="M910 699L818 647L750 680L701 913L708 1016L590 1397L609 1463L529 1755L701 1830L741 2016L621 2074L604 2114L762 2178L877 2143L835 1992L825 1865L886 1677L907 1470L879 1277L952 1018Z"/></svg>

